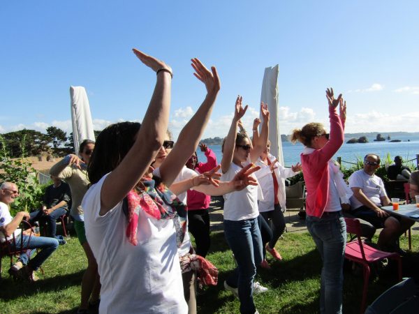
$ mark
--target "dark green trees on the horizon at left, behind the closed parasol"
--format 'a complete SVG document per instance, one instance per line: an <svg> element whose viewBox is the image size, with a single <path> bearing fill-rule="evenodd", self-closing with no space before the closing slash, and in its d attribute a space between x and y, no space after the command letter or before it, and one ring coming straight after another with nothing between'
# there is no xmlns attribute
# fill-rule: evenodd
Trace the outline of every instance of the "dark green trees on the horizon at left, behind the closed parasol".
<svg viewBox="0 0 419 314"><path fill-rule="evenodd" d="M95 137L101 131L95 130ZM7 149L10 158L25 156L38 156L47 153L52 156L66 156L73 154L74 142L73 133L67 133L61 128L50 126L46 133L37 130L17 130L1 135L0 149ZM6 147L3 147L5 145Z"/></svg>

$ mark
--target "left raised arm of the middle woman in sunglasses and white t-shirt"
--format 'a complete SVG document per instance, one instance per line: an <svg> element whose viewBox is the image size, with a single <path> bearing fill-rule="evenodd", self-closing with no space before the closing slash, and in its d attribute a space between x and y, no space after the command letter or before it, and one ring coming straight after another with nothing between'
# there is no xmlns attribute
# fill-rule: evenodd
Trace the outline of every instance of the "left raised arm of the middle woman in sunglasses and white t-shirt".
<svg viewBox="0 0 419 314"><path fill-rule="evenodd" d="M247 105L244 108L242 107L242 96L237 96L233 121L231 121L230 130L228 130L228 135L224 142L223 158L221 158L221 171L223 173L226 173L228 169L230 169L230 165L233 162L237 126L240 119L242 119L246 113L247 107Z"/></svg>

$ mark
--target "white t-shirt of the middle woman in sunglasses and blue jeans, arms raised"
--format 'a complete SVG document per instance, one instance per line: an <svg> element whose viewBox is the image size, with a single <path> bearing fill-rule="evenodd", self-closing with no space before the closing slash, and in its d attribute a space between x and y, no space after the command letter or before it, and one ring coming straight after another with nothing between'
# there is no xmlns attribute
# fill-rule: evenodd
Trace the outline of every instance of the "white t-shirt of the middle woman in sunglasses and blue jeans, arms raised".
<svg viewBox="0 0 419 314"><path fill-rule="evenodd" d="M249 163L243 163L244 166ZM231 181L242 167L231 163L228 171L221 176L221 181ZM256 179L254 174L252 177ZM257 179L256 179L257 180ZM224 197L224 219L246 220L259 216L258 211L258 186L247 186L243 190L227 193Z"/></svg>

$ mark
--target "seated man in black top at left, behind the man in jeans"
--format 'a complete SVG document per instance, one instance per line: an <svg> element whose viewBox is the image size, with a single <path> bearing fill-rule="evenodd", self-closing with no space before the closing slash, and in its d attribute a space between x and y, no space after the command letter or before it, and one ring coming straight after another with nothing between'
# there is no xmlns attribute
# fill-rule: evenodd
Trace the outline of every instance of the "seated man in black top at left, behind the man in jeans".
<svg viewBox="0 0 419 314"><path fill-rule="evenodd" d="M32 212L29 221L31 224L37 220L46 221L49 227L48 237L57 238L60 244L65 244L62 236L56 236L57 219L66 214L68 210L68 202L70 202L71 197L70 187L59 177L51 176L51 179L54 184L48 186L45 190L42 210Z"/></svg>

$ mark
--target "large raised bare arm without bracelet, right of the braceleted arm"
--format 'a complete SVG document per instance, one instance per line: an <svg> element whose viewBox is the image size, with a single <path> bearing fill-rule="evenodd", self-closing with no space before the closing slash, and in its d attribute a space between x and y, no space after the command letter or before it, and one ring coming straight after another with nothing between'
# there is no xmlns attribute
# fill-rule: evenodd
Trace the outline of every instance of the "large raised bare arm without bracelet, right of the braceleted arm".
<svg viewBox="0 0 419 314"><path fill-rule="evenodd" d="M205 96L198 111L193 114L191 120L184 126L175 147L160 166L161 179L167 186L170 186L176 179L180 170L198 146L220 90L220 80L214 66L211 67L210 71L201 61L195 58L192 59L192 67L195 70L193 75L205 84L207 96Z"/></svg>

